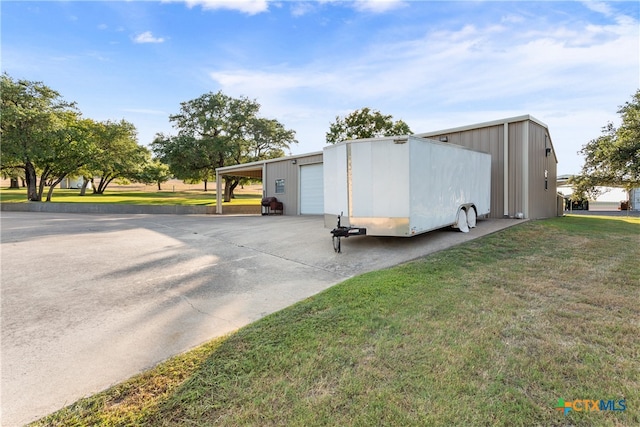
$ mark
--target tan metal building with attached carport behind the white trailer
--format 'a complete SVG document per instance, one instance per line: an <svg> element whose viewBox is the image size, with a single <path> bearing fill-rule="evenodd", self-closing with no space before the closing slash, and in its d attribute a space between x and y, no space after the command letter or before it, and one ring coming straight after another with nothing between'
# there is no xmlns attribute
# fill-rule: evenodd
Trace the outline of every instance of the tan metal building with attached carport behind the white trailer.
<svg viewBox="0 0 640 427"><path fill-rule="evenodd" d="M558 160L547 125L534 117L511 117L415 136L491 154L490 217L558 215ZM221 177L235 175L262 179L263 197L281 201L285 215L321 215L322 174L322 152L218 168L217 213L222 213Z"/></svg>

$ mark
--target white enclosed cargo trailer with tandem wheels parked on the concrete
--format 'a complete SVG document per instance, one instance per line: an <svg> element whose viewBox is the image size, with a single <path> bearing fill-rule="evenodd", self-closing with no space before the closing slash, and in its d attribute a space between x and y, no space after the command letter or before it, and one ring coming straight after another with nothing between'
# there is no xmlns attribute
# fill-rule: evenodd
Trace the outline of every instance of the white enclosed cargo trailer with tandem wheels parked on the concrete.
<svg viewBox="0 0 640 427"><path fill-rule="evenodd" d="M489 214L487 153L396 136L344 141L325 147L323 157L325 226L342 217L338 241L354 234L410 237L447 226L467 232Z"/></svg>

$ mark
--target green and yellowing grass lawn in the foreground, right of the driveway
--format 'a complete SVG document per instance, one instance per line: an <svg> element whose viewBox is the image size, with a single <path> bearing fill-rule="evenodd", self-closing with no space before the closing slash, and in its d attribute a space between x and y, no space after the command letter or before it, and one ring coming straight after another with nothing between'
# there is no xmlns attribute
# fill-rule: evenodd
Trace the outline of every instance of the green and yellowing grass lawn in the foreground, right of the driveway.
<svg viewBox="0 0 640 427"><path fill-rule="evenodd" d="M640 425L639 259L640 218L525 222L349 279L35 425ZM558 399L626 410L564 415Z"/></svg>

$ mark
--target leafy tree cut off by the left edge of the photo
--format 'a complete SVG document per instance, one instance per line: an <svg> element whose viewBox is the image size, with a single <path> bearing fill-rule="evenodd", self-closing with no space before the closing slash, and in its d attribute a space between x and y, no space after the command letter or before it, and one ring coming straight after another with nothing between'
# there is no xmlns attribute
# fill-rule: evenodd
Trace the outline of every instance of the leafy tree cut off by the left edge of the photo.
<svg viewBox="0 0 640 427"><path fill-rule="evenodd" d="M41 82L14 80L2 75L2 111L0 133L2 156L0 168L24 170L27 199L40 201L41 188L37 188L37 168L47 174L52 161L52 147L65 150L69 147L61 140L61 130L71 117L79 113L73 103L64 101L55 90ZM56 156L62 152L56 153ZM58 171L60 173L60 171Z"/></svg>

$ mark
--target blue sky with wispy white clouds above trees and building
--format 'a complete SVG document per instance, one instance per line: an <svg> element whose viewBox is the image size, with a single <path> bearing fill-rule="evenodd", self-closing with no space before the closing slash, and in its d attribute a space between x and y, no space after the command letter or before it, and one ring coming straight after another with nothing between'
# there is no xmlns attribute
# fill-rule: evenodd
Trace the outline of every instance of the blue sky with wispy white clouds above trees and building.
<svg viewBox="0 0 640 427"><path fill-rule="evenodd" d="M530 114L558 173L640 87L640 3L2 1L2 71L42 81L149 144L180 103L221 90L319 151L369 107L428 132Z"/></svg>

